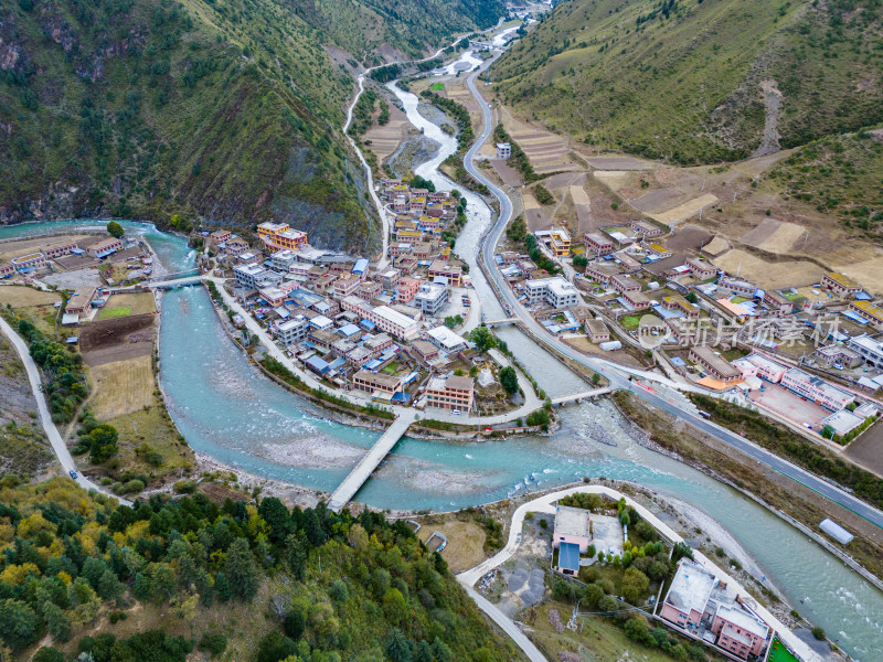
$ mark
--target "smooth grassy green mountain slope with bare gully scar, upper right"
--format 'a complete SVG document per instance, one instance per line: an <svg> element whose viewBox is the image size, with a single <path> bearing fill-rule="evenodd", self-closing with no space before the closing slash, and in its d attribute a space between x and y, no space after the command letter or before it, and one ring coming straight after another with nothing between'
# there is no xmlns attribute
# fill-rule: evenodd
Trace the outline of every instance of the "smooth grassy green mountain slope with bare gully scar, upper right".
<svg viewBox="0 0 883 662"><path fill-rule="evenodd" d="M517 111L708 163L883 121L881 0L564 0L492 67Z"/></svg>

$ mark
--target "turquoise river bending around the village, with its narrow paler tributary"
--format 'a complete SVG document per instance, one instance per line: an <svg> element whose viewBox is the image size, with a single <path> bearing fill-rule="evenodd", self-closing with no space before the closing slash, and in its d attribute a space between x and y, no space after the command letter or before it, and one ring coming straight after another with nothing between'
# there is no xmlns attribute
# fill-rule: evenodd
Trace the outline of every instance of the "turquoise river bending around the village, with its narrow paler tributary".
<svg viewBox="0 0 883 662"><path fill-rule="evenodd" d="M408 100L405 107L408 118L421 126L416 97L413 106ZM430 127L425 127L425 134L435 139ZM440 129L438 136L447 138ZM453 185L436 171L421 169L418 173L430 175L436 185ZM490 223L490 210L480 197L466 195L469 223L457 252L471 267L478 238ZM87 225L94 224L2 227L0 238ZM124 222L124 227L145 236L170 271L192 266L193 253L182 238L143 223ZM470 268L470 274L486 314L501 313L493 309L496 299L489 289L482 289L482 284L488 286L480 270ZM161 322L160 383L172 418L198 452L268 479L329 490L377 439L377 433L327 420L321 409L258 374L226 338L203 288L163 293ZM572 391L573 384L581 383L520 332L510 329L501 335L550 394ZM469 444L405 438L358 499L383 509L445 511L584 476L632 481L701 508L738 541L811 622L825 628L854 658L883 660L883 595L837 558L737 492L635 444L608 403L570 407L562 418L562 428L545 437ZM616 447L596 440L602 430Z"/></svg>

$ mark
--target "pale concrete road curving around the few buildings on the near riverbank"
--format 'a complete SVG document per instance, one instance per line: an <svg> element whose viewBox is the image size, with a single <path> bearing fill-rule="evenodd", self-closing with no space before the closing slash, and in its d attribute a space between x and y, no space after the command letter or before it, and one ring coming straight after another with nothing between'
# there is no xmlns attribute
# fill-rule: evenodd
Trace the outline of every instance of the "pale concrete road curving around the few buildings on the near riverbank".
<svg viewBox="0 0 883 662"><path fill-rule="evenodd" d="M618 492L611 488L607 488L604 485L577 485L575 488L566 488L564 490L558 490L557 492L550 492L549 494L544 494L542 496L538 496L532 501L528 501L526 503L522 503L515 512L512 513L512 525L509 527L509 540L507 541L506 546L500 549L497 554L482 560L476 567L465 570L457 575L457 579L460 581L461 585L471 588L475 584L481 579L487 573L492 570L493 568L502 565L512 556L514 556L515 552L518 551L519 545L521 545L522 541L522 531L524 528L524 516L528 513L544 513L551 514L554 516L555 514L555 505L554 503L564 496L568 496L570 494L603 494L608 499L614 501L619 501L620 499L625 499L626 503L634 508L638 514L641 516L642 520L646 520L653 528L656 528L659 534L664 537L670 544L681 543L683 538L671 528L668 524L662 522L659 517L657 517L653 513L651 513L647 508L642 504L634 501L630 496ZM781 621L779 621L773 613L770 613L763 605L757 604L747 590L743 586L741 586L735 579L732 577L727 577L723 574L720 567L717 567L714 563L709 560L706 556L704 556L701 552L695 551L693 553L695 560L703 565L704 567L709 568L713 574L717 575L722 579L724 579L730 586L735 588L736 592L745 599L745 601L752 606L752 608L757 611L760 617L778 632L779 637L791 647L792 650L796 650L804 660L807 662L822 662L821 656L818 655L812 649L810 649L804 641L801 641L791 630L789 630ZM476 592L477 596L481 597L480 594ZM471 596L471 594L470 594ZM474 597L475 599L475 597ZM478 600L476 600L478 601Z"/></svg>

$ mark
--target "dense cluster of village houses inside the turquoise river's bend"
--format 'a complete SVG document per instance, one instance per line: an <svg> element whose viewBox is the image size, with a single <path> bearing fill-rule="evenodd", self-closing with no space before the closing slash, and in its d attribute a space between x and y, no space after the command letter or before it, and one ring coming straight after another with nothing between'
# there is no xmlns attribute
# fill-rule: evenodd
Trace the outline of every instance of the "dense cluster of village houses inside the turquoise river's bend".
<svg viewBox="0 0 883 662"><path fill-rule="evenodd" d="M447 200L428 194L423 212L443 209ZM317 249L306 233L284 223L263 223L257 236L260 250L226 231L208 241L232 268L240 300L305 370L381 403L460 412L475 406L474 380L446 367L470 345L435 321L451 288L466 280L447 255L409 270L376 269L368 259Z"/></svg>

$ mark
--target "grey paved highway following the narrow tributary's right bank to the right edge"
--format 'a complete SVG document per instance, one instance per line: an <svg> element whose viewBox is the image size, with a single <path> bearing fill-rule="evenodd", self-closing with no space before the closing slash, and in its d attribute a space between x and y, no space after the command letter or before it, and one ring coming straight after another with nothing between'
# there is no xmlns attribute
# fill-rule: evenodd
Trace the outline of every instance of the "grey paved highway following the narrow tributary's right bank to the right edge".
<svg viewBox="0 0 883 662"><path fill-rule="evenodd" d="M499 56L499 55L498 55ZM469 89L472 92L472 95L478 100L479 106L482 109L485 116L485 126L483 129L476 140L475 145L466 152L464 157L464 166L469 173L475 177L478 181L482 182L488 189L493 193L493 195L500 202L500 215L497 220L497 223L488 233L483 243L481 245L481 256L485 261L486 270L488 271L490 278L492 279L493 284L497 287L498 292L501 292L501 299L503 303L506 303L513 314L518 316L521 322L534 335L534 338L539 339L541 342L546 344L547 346L556 350L561 354L567 356L572 361L581 363L585 365L589 370L593 370L597 373L600 373L610 382L610 386L614 388L624 388L626 391L630 391L631 393L638 395L639 397L643 398L648 403L679 417L683 420L690 423L694 427L701 429L702 431L716 437L724 444L732 446L741 450L742 452L746 453L751 458L757 460L758 462L763 462L768 467L772 467L776 471L780 472L783 476L786 476L797 482L806 485L810 490L818 492L819 494L827 496L834 503L838 503L854 512L858 515L861 515L869 522L876 524L877 526L883 528L883 512L879 509L873 508L869 503L858 499L857 496L850 494L849 492L844 491L842 488L839 488L821 478L805 471L804 469L792 465L791 462L780 458L779 456L769 452L760 448L759 446L748 441L744 437L736 435L719 425L715 425L704 418L701 418L695 415L694 410L690 407L685 406L684 404L678 404L677 398L668 399L660 397L653 388L648 388L642 384L636 384L631 381L631 377L643 377L646 380L652 380L657 383L662 383L669 387L678 388L681 391L699 391L696 388L690 388L684 386L683 384L678 384L668 377L660 377L655 373L648 373L646 371L636 371L628 369L626 366L614 364L609 361L605 361L602 359L595 359L586 356L570 345L566 345L557 338L551 335L541 324L536 322L536 320L531 317L531 314L518 302L515 299L514 293L509 288L508 284L503 279L500 270L497 266L497 263L493 261L493 254L497 247L498 242L500 241L500 236L502 235L503 231L506 229L509 220L512 216L512 203L509 200L509 196L493 182L488 180L483 175L480 169L476 168L474 163L474 158L483 142L488 139L491 134L491 116L490 109L488 108L488 104L485 102L481 93L479 92L478 87L476 86L476 78L479 76L483 68L487 68L494 58L486 62L481 70L477 71L472 75L467 78L467 85ZM675 402L672 402L675 401Z"/></svg>

